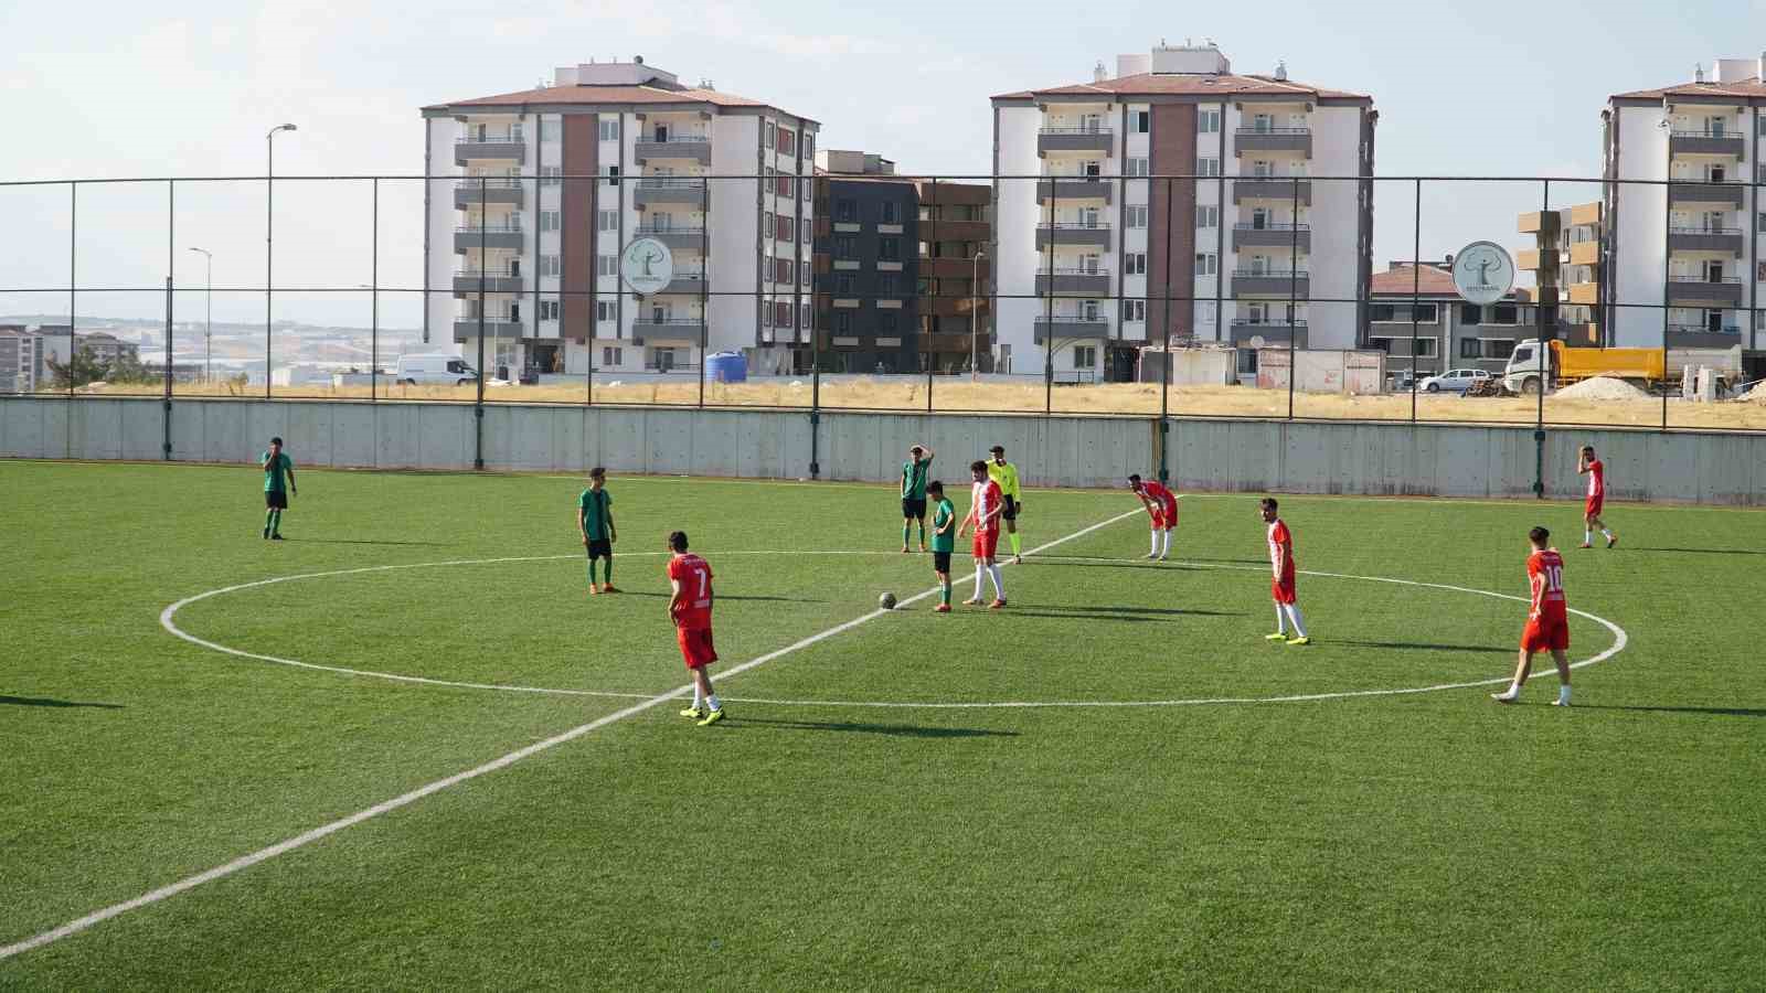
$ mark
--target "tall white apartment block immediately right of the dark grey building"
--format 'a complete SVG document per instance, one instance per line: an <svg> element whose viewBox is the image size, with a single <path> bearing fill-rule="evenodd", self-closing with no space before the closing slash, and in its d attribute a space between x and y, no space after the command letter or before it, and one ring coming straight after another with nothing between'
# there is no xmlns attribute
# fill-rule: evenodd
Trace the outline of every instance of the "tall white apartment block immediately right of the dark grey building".
<svg viewBox="0 0 1766 993"><path fill-rule="evenodd" d="M1355 348L1372 99L1236 74L1211 42L1123 55L994 111L1001 369L1132 378L1148 343ZM1196 177L1166 182L1148 177ZM1166 307L1166 299L1171 306ZM1053 353L1053 355L1051 355Z"/></svg>

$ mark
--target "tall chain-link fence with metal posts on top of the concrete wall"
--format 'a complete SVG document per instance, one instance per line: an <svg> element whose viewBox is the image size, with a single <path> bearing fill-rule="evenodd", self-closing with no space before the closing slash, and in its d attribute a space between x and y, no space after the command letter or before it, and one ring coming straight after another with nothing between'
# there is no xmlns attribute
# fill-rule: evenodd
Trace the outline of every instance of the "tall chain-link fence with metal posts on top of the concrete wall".
<svg viewBox="0 0 1766 993"><path fill-rule="evenodd" d="M1766 429L1759 184L1074 170L0 184L0 392Z"/></svg>

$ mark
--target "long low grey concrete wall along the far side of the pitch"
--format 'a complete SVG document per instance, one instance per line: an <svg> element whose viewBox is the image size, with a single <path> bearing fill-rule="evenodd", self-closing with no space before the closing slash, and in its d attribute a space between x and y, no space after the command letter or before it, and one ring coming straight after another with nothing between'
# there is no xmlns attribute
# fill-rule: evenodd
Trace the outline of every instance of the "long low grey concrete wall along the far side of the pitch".
<svg viewBox="0 0 1766 993"><path fill-rule="evenodd" d="M0 399L0 458L159 459L159 398ZM473 408L422 403L180 401L171 456L247 463L272 435L295 465L461 470L473 465ZM811 417L777 410L486 406L484 466L805 479ZM821 479L894 482L908 445L938 452L934 475L1000 443L1030 486L1120 486L1158 470L1146 417L821 413ZM1545 493L1584 491L1575 454L1593 443L1614 500L1766 505L1766 435L1547 429ZM1529 496L1533 431L1450 424L1173 421L1178 491Z"/></svg>

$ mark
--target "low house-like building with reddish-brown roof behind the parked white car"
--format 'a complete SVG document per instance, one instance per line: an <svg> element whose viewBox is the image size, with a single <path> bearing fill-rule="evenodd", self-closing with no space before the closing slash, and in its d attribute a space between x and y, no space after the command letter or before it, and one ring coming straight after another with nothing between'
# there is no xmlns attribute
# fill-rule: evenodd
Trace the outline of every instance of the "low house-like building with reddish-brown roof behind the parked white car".
<svg viewBox="0 0 1766 993"><path fill-rule="evenodd" d="M1468 304L1453 284L1453 256L1392 262L1369 288L1367 346L1386 353L1388 371L1432 376L1446 369L1499 373L1515 343L1535 337L1536 311L1526 290L1489 306Z"/></svg>

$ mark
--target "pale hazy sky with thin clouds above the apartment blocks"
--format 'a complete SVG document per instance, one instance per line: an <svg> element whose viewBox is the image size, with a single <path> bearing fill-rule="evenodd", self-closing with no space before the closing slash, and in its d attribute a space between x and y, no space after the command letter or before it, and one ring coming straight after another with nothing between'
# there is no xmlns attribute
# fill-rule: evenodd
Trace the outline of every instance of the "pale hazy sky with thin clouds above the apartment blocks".
<svg viewBox="0 0 1766 993"><path fill-rule="evenodd" d="M1635 12L1634 12L1635 11ZM1192 19L1194 18L1194 19ZM281 0L275 4L0 0L0 180L419 173L429 102L546 81L555 65L630 58L710 78L823 122L821 147L867 148L901 171L989 168L987 97L1083 81L1091 65L1158 39L1215 39L1243 72L1287 60L1298 81L1372 94L1379 175L1581 175L1600 166L1612 92L1690 80L1695 62L1766 48L1766 0L1351 4L1259 0L1197 16L1169 2L804 0L514 4ZM170 254L178 320L201 307L203 246L219 286L263 283L263 184L184 184ZM1376 200L1376 269L1411 254L1411 191ZM1598 187L1554 189L1554 203ZM277 284L371 279L367 184L275 186ZM1521 244L1515 214L1540 187L1429 187L1422 253L1475 239ZM166 184L83 187L79 283L157 288L168 274ZM0 187L0 286L69 276L69 193ZM383 184L380 281L420 286L420 189ZM0 293L0 313L65 313L65 295ZM162 293L83 293L79 311L162 313ZM419 322L413 299L385 323ZM221 320L261 320L261 293L217 293ZM277 316L367 323L367 295L277 295Z"/></svg>

